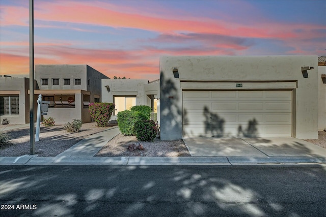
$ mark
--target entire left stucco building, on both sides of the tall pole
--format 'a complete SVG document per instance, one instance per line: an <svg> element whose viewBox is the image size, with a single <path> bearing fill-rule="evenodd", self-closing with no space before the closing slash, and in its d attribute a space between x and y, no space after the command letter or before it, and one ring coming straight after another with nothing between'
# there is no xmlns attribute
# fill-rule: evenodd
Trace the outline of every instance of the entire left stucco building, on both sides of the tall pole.
<svg viewBox="0 0 326 217"><path fill-rule="evenodd" d="M0 115L11 124L29 123L29 76L0 78ZM34 111L37 111L38 95L49 101L47 115L57 124L72 119L91 122L88 110L92 102L101 102L101 79L107 76L88 65L36 65ZM36 120L36 115L35 120Z"/></svg>

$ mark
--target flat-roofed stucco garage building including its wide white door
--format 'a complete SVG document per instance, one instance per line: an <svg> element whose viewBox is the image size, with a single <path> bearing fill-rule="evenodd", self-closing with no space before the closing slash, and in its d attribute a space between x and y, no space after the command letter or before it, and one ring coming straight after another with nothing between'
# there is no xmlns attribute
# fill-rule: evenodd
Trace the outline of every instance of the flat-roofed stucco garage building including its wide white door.
<svg viewBox="0 0 326 217"><path fill-rule="evenodd" d="M317 139L318 81L315 55L161 57L160 138Z"/></svg>

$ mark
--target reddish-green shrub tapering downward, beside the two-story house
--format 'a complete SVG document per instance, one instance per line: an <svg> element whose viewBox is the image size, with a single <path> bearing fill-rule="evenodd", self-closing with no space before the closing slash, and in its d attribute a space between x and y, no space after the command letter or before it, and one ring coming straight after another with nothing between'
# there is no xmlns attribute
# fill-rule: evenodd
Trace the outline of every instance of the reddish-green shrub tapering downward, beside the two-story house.
<svg viewBox="0 0 326 217"><path fill-rule="evenodd" d="M106 127L114 109L113 103L90 103L89 111L91 117L98 127Z"/></svg>

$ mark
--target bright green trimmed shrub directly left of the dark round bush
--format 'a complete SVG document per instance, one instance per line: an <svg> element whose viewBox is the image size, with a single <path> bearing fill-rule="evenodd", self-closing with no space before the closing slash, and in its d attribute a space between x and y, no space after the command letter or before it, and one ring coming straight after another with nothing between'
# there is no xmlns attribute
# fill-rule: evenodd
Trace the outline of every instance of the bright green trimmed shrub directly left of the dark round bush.
<svg viewBox="0 0 326 217"><path fill-rule="evenodd" d="M134 123L138 120L147 119L143 113L130 110L120 111L117 116L119 130L125 136L135 135L133 132Z"/></svg>

